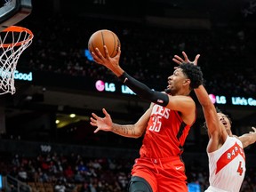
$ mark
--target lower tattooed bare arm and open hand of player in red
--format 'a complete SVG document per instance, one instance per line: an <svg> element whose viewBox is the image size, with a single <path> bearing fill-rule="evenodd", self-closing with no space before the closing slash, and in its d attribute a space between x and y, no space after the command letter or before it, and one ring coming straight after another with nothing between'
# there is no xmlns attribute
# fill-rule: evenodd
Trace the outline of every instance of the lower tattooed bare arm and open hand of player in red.
<svg viewBox="0 0 256 192"><path fill-rule="evenodd" d="M115 132L116 134L129 138L139 138L145 132L151 114L151 108L148 108L136 124L115 124L112 122L107 110L103 108L102 111L105 115L104 117L92 113L90 124L97 127L94 132Z"/></svg>

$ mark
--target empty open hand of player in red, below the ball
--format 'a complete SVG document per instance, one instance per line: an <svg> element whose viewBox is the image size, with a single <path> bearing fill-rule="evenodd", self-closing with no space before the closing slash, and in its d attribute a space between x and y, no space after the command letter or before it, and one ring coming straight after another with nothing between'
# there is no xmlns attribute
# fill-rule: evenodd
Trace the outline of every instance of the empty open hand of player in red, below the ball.
<svg viewBox="0 0 256 192"><path fill-rule="evenodd" d="M111 132L112 131L112 119L111 116L108 114L105 108L102 109L104 113L104 117L97 116L96 114L92 113L92 117L90 118L92 126L96 126L96 130L94 133L101 131Z"/></svg>

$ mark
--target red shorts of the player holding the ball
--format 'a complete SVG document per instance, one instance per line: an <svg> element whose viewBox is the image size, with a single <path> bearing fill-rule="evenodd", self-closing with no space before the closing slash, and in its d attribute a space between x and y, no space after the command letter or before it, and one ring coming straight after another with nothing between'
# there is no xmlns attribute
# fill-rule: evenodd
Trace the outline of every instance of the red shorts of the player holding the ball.
<svg viewBox="0 0 256 192"><path fill-rule="evenodd" d="M180 156L135 160L132 176L148 181L153 192L188 192L185 164Z"/></svg>

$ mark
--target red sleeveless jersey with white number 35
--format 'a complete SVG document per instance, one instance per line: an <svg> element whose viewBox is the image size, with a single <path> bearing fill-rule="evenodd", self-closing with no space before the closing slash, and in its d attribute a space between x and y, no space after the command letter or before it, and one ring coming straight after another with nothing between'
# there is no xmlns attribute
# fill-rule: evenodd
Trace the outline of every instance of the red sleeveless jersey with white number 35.
<svg viewBox="0 0 256 192"><path fill-rule="evenodd" d="M178 111L154 104L140 148L140 156L180 156L190 127L191 125L183 122Z"/></svg>

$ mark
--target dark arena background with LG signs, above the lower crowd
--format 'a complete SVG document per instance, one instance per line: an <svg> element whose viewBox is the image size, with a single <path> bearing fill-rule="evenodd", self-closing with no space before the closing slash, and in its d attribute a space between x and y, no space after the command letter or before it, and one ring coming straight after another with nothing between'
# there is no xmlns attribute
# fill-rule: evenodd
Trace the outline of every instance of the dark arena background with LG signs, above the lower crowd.
<svg viewBox="0 0 256 192"><path fill-rule="evenodd" d="M0 98L2 154L76 152L88 157L127 159L139 155L141 139L111 132L94 134L89 124L92 112L102 115L101 108L107 108L114 122L133 124L149 106L86 54L89 37L102 28L119 36L124 69L157 91L167 84L175 66L174 54L185 51L193 58L200 53L205 86L215 95L216 106L232 118L233 132L240 135L256 126L256 1L32 3L31 14L17 24L29 28L35 36L17 65L27 80L16 79L16 93ZM103 92L95 88L98 80L105 84ZM198 119L189 133L184 161L188 166L196 162L207 168L208 137L202 128L202 109L197 106ZM255 150L255 144L245 149L247 166L254 169Z"/></svg>

